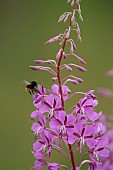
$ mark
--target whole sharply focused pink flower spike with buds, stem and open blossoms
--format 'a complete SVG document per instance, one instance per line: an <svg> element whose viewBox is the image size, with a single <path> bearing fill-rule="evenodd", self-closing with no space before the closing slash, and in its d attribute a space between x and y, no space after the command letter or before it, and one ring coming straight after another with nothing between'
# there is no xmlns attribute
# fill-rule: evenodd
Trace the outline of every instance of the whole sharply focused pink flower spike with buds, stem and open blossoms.
<svg viewBox="0 0 113 170"><path fill-rule="evenodd" d="M38 65L30 66L32 70L47 71L52 75L54 82L50 89L38 84L37 87L34 87L36 93L32 95L36 108L30 116L33 120L31 129L34 133L32 153L36 158L32 168L37 170L43 168L80 170L85 163L88 164L89 170L94 170L102 164L103 159L109 156L106 126L99 120L102 112L95 111L98 101L94 90L87 93L72 93L67 83L77 85L82 83L83 79L72 74L68 74L66 77L61 76L63 69L69 73L73 71L73 67L81 72L86 71L74 60L72 63L64 62L67 57L74 57L80 64L86 64L84 59L76 54L76 43L70 38L71 31L74 31L77 33L78 40L82 42L80 27L75 17L77 14L83 21L80 0L68 0L68 3L71 3L72 11L65 12L58 20L59 22L69 21L67 29L64 33L60 33L46 42L46 44L51 44L60 41L60 49L55 60L35 60ZM67 44L70 45L69 53L65 52ZM76 94L82 94L83 98L66 110L66 103ZM66 145L68 151L63 149L63 145ZM87 148L85 154L84 148ZM53 149L68 157L71 167L59 163L54 156L54 161L51 161ZM75 160L77 151L83 153L81 161Z"/></svg>

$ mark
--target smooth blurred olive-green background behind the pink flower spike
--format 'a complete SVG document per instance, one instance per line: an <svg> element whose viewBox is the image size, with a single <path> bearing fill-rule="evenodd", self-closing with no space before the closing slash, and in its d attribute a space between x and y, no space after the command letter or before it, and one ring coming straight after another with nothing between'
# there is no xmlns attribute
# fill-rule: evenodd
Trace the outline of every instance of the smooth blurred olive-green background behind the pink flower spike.
<svg viewBox="0 0 113 170"><path fill-rule="evenodd" d="M35 109L25 93L23 80L36 80L46 88L52 84L45 72L32 71L35 59L54 59L59 46L44 43L62 33L67 23L58 17L70 11L66 0L0 0L0 169L28 170L33 165L33 134L30 113ZM88 91L99 86L112 88L111 78L104 76L113 68L113 1L81 2L84 22L79 21L83 43L77 42L77 54L86 62L86 73L73 70L84 83L70 85L72 91ZM75 36L75 37L74 37ZM69 62L78 62L72 57ZM64 74L64 73L63 73ZM97 111L111 113L112 100L98 97ZM74 98L72 103L77 101ZM57 161L57 159L56 159ZM63 159L63 162L67 160Z"/></svg>

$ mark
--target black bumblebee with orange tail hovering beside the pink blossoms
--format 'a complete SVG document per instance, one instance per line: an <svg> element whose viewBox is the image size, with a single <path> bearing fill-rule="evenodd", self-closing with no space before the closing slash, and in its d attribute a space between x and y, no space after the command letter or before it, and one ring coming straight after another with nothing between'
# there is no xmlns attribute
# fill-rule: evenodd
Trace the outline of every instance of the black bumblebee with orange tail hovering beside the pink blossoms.
<svg viewBox="0 0 113 170"><path fill-rule="evenodd" d="M25 83L27 84L25 91L29 92L30 95L34 94L34 92L37 91L36 90L36 88L37 88L37 82L36 81L32 81L32 82L25 81Z"/></svg>

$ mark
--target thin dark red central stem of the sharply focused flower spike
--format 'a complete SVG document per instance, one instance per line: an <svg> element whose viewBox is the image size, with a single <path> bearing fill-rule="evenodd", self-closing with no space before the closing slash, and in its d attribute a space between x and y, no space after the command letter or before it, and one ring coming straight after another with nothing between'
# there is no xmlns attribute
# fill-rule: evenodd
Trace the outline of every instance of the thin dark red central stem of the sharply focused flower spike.
<svg viewBox="0 0 113 170"><path fill-rule="evenodd" d="M71 17L73 15L74 9L75 9L75 3L72 7ZM69 31L71 24L72 24L71 17L70 17L70 22L69 22L69 25L68 25L68 31ZM66 42L67 42L67 38L65 37L63 44L62 44L62 50L61 50L61 53L60 53L58 64L57 64L57 79L58 79L59 93L60 93L60 96L61 96L61 102L62 102L62 109L63 110L64 110L64 99L63 99L63 94L62 94L62 82L61 82L61 78L60 78L60 65L61 65L61 60L62 60L62 57L63 57L63 52L64 52L64 49L65 49L65 46L66 46ZM69 146L69 150L70 150L72 167L73 167L73 170L76 170L75 161L74 161L74 153L72 151L72 145L68 144L68 146Z"/></svg>

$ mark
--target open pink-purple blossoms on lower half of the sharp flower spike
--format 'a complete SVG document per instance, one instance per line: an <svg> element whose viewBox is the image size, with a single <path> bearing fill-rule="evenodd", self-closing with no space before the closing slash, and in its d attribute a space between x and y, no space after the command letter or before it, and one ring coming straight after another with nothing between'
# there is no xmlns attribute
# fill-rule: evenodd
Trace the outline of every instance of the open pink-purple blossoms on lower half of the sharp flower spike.
<svg viewBox="0 0 113 170"><path fill-rule="evenodd" d="M63 99L68 101L68 86L62 86ZM96 113L94 107L98 101L93 94L93 90L83 93L84 97L75 105L73 113L62 109L62 103L57 84L52 85L49 94L43 86L38 85L38 93L34 94L34 106L36 110L31 113L32 131L34 133L35 143L33 144L33 154L36 158L33 168L40 170L46 166L49 170L60 168L69 169L66 165L57 162L49 162L52 149L61 152L62 155L69 157L65 153L62 143L68 145L82 153L87 145L85 155L89 155L89 160L83 160L76 169L80 169L84 163L88 163L90 169L101 165L102 159L109 156L108 136L105 134L106 127L99 118L102 112Z"/></svg>

